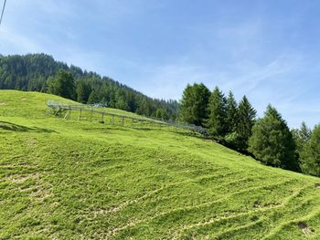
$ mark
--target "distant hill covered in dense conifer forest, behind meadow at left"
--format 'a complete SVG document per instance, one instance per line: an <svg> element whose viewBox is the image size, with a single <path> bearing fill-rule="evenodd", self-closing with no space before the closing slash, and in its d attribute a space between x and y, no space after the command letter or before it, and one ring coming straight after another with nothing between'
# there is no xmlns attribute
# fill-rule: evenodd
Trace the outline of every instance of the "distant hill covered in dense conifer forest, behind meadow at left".
<svg viewBox="0 0 320 240"><path fill-rule="evenodd" d="M145 116L176 119L176 100L152 99L108 77L68 66L46 54L0 56L0 89L48 92L60 69L71 73L70 99L81 103L104 102L111 108Z"/></svg>

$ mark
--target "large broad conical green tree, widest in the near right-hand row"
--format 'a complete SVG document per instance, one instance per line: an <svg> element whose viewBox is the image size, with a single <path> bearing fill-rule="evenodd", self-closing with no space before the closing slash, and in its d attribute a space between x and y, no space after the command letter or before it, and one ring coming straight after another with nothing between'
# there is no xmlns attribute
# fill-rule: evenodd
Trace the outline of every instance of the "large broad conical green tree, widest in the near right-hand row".
<svg viewBox="0 0 320 240"><path fill-rule="evenodd" d="M280 113L271 105L252 129L249 151L265 164L298 170L293 135Z"/></svg>

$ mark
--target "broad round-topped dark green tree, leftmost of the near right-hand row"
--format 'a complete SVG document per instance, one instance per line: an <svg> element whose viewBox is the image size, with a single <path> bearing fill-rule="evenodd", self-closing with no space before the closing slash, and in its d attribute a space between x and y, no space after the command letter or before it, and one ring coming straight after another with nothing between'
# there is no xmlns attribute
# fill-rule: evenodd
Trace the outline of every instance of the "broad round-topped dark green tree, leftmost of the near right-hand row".
<svg viewBox="0 0 320 240"><path fill-rule="evenodd" d="M206 108L209 97L210 91L204 84L194 83L192 86L188 84L181 99L180 119L203 126L208 119Z"/></svg>

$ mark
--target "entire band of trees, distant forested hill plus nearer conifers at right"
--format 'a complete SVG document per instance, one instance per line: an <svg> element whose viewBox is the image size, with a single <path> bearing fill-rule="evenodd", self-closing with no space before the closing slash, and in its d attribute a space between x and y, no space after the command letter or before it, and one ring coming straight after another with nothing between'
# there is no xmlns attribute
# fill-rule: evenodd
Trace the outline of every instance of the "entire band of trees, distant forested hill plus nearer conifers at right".
<svg viewBox="0 0 320 240"><path fill-rule="evenodd" d="M320 124L310 130L303 122L290 130L271 105L257 111L243 96L204 84L187 85L181 101L152 99L112 78L101 77L45 54L0 55L0 89L48 92L80 103L105 103L140 115L180 120L207 128L209 136L264 164L320 176Z"/></svg>

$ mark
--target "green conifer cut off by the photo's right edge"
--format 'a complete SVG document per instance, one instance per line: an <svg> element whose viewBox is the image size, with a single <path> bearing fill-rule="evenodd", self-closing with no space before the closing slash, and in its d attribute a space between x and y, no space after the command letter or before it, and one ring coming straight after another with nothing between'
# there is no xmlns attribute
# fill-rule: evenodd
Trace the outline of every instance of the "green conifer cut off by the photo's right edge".
<svg viewBox="0 0 320 240"><path fill-rule="evenodd" d="M320 124L315 126L309 138L309 130L301 129L304 134L303 150L301 151L301 169L304 173L320 176Z"/></svg>

